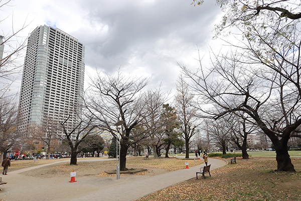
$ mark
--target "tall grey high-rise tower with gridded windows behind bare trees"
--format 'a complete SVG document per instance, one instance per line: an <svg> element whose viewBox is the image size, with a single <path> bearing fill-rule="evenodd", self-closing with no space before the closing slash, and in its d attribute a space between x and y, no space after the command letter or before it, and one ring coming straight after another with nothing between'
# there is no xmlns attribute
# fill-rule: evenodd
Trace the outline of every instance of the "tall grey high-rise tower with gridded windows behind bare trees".
<svg viewBox="0 0 301 201"><path fill-rule="evenodd" d="M19 101L20 132L43 119L76 122L84 86L85 46L65 32L37 27L28 38Z"/></svg>

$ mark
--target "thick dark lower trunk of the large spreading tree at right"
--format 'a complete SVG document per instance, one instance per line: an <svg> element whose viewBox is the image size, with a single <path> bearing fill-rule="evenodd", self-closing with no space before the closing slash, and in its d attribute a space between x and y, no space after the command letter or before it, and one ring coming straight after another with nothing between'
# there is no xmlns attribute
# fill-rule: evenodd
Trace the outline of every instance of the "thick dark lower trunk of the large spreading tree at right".
<svg viewBox="0 0 301 201"><path fill-rule="evenodd" d="M277 161L277 169L276 171L292 171L295 172L296 170L291 163L287 145L278 145L275 146L276 149L276 161Z"/></svg>

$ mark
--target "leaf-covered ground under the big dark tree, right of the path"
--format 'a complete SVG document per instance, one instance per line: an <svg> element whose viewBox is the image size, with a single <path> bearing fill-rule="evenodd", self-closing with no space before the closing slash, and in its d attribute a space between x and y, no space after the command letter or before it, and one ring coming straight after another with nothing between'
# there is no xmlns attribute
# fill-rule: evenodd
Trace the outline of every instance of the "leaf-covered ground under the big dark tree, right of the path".
<svg viewBox="0 0 301 201"><path fill-rule="evenodd" d="M297 172L274 172L275 158L238 159L135 201L145 200L300 200L301 158L292 158Z"/></svg>

